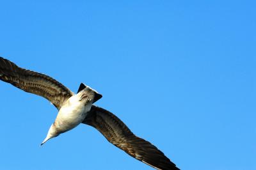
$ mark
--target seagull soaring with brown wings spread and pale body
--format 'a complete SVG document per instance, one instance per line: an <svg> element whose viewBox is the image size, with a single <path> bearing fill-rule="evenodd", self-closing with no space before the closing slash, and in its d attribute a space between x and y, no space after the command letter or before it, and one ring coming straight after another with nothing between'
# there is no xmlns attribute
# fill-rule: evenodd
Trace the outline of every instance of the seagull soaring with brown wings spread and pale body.
<svg viewBox="0 0 256 170"><path fill-rule="evenodd" d="M115 114L94 105L94 102L102 98L95 89L81 83L75 94L52 77L20 68L2 57L0 79L23 91L46 98L58 109L56 120L42 144L84 123L99 130L109 143L148 166L161 170L179 169L156 146L134 135Z"/></svg>

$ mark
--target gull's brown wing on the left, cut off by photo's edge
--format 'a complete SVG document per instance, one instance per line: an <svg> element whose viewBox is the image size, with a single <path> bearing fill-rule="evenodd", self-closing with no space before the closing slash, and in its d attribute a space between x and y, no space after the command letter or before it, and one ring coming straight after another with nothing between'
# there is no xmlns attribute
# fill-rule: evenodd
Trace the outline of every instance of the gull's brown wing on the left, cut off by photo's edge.
<svg viewBox="0 0 256 170"><path fill-rule="evenodd" d="M0 79L26 92L40 95L60 110L72 91L48 75L26 70L0 57Z"/></svg>

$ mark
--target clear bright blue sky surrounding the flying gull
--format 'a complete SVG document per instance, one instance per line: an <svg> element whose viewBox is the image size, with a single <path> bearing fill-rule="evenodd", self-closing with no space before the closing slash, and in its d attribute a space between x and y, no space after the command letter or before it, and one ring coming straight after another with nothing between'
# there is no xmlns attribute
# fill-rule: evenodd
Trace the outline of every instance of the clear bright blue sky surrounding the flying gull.
<svg viewBox="0 0 256 170"><path fill-rule="evenodd" d="M0 56L51 75L180 169L256 169L254 1L0 1ZM0 82L0 169L152 169Z"/></svg>

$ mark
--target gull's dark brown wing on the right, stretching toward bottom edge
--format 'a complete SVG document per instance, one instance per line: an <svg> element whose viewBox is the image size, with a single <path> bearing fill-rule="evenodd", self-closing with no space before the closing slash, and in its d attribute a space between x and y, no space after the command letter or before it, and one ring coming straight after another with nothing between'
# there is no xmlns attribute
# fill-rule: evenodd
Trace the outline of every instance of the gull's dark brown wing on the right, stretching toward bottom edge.
<svg viewBox="0 0 256 170"><path fill-rule="evenodd" d="M97 128L108 141L132 157L156 169L179 169L153 144L134 135L114 114L92 106L83 123Z"/></svg>

